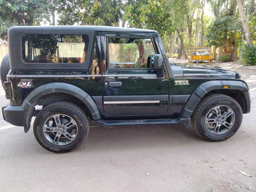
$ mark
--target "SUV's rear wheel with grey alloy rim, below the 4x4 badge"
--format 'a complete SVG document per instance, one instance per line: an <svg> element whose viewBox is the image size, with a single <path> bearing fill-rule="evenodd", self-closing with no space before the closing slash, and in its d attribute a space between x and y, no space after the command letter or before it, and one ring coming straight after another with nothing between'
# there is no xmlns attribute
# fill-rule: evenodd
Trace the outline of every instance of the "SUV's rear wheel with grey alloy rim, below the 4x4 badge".
<svg viewBox="0 0 256 192"><path fill-rule="evenodd" d="M84 111L70 102L55 102L44 107L34 121L34 136L45 149L61 153L79 147L89 132Z"/></svg>

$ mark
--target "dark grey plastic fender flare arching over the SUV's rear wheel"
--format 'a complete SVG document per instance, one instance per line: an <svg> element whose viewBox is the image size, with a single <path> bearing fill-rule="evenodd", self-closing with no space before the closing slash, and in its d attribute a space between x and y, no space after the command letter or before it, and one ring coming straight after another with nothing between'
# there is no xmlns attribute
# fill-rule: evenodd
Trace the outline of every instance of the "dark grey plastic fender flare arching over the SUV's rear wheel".
<svg viewBox="0 0 256 192"><path fill-rule="evenodd" d="M93 120L99 120L100 112L94 100L82 89L67 83L48 83L34 89L22 103L22 108L25 111L24 115L24 131L28 132L30 122L36 101L47 94L51 93L66 93L80 99L90 110Z"/></svg>

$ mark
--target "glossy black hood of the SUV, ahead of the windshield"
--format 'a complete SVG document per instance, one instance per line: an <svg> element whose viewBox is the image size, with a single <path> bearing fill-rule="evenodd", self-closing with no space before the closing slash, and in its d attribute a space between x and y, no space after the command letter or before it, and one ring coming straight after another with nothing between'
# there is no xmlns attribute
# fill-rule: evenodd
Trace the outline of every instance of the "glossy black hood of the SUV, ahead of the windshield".
<svg viewBox="0 0 256 192"><path fill-rule="evenodd" d="M183 70L184 77L222 77L222 78L240 78L238 72L224 69L222 67L214 67L207 65L194 65L194 64L176 64L181 66Z"/></svg>

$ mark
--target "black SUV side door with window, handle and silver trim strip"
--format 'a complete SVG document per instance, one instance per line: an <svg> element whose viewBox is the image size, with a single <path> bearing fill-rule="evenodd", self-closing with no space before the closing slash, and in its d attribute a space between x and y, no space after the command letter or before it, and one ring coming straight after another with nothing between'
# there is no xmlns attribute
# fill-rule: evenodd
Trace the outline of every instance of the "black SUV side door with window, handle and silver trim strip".
<svg viewBox="0 0 256 192"><path fill-rule="evenodd" d="M104 112L111 116L165 114L168 77L157 77L154 34L101 33Z"/></svg>

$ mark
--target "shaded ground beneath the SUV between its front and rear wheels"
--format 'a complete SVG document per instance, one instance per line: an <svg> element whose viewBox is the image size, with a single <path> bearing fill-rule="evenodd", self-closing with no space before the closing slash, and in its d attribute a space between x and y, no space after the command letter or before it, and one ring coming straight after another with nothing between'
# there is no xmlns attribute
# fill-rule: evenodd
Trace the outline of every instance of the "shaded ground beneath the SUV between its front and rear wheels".
<svg viewBox="0 0 256 192"><path fill-rule="evenodd" d="M148 148L177 147L180 144L203 141L192 128L186 126L135 126L103 128L93 126L84 150L143 150Z"/></svg>

